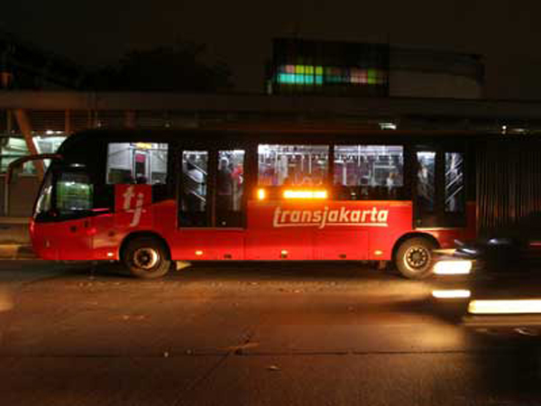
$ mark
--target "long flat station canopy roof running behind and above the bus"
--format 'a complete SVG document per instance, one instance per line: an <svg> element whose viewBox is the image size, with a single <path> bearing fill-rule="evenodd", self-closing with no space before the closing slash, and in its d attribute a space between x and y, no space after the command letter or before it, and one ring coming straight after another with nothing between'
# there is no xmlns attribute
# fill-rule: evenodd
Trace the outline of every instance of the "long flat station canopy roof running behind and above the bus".
<svg viewBox="0 0 541 406"><path fill-rule="evenodd" d="M0 91L0 111L18 108L28 111L38 132L271 124L491 134L541 131L541 102L513 100ZM0 131L4 129L0 120Z"/></svg>

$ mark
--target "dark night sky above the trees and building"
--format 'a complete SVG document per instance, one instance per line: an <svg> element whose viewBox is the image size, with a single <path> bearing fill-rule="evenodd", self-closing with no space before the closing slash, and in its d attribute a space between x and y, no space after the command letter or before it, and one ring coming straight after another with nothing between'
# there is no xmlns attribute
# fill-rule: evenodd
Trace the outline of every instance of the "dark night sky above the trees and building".
<svg viewBox="0 0 541 406"><path fill-rule="evenodd" d="M0 28L85 65L175 39L206 43L261 92L271 39L388 42L485 56L486 97L541 100L537 1L6 0Z"/></svg>

